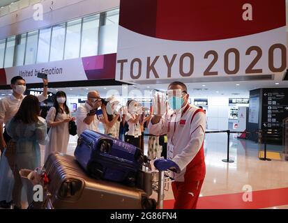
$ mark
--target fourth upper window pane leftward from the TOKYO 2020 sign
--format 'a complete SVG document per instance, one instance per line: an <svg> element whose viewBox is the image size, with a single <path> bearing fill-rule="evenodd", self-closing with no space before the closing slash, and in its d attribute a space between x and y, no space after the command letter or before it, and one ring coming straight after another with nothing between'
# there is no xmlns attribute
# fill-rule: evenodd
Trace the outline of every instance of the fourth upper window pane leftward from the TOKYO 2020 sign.
<svg viewBox="0 0 288 223"><path fill-rule="evenodd" d="M50 61L61 61L64 54L65 23L52 27Z"/></svg>

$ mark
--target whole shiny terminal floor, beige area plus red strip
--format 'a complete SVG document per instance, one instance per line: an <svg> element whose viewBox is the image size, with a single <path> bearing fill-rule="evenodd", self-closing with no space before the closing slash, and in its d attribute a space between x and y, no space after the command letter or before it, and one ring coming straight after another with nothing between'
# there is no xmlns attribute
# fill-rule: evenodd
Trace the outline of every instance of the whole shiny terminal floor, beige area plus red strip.
<svg viewBox="0 0 288 223"><path fill-rule="evenodd" d="M76 145L77 137L70 137L68 154L73 155ZM271 151L282 151L280 146L269 145L269 148ZM43 153L44 148L41 148L41 151ZM207 134L205 140L206 178L202 186L198 207L227 208L227 203L223 199L226 197L233 198L230 199L230 202L234 208L288 208L288 192L281 189L288 188L288 162L283 159L270 162L262 161L259 160L258 153L258 144L249 140L237 139L235 135L232 135L229 158L234 162L222 162L222 159L227 157L227 134ZM241 203L244 202L241 194L244 193L243 187L245 185L252 187L252 194L253 192L255 194L254 203ZM271 195L271 191L273 195ZM283 192L285 193L281 194ZM235 199L235 194L238 194L238 199ZM271 196L268 197L268 201L265 200L267 206L259 204L259 202L263 202L261 196ZM156 197L156 194L153 194L153 197ZM281 201L279 201L279 197ZM214 204L211 206L209 203L212 201ZM172 208L171 187L165 192L165 202L167 208Z"/></svg>

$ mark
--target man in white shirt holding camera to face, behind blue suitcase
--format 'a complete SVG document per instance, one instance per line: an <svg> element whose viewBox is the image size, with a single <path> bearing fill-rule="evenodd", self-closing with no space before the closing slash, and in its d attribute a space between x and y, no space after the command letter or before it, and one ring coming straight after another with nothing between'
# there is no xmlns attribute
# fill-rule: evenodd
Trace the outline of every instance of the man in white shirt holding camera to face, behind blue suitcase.
<svg viewBox="0 0 288 223"><path fill-rule="evenodd" d="M98 109L101 107L101 109ZM98 91L90 91L84 105L77 109L76 123L78 137L84 130L98 131L99 122L107 123L105 103Z"/></svg>

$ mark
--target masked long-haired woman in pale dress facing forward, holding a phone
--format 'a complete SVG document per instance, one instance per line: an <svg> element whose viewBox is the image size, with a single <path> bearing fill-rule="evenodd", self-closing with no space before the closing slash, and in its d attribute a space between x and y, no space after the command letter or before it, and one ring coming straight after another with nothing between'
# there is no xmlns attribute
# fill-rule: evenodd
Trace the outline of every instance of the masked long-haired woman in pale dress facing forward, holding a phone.
<svg viewBox="0 0 288 223"><path fill-rule="evenodd" d="M49 143L45 146L45 161L51 153L67 153L69 141L69 121L75 121L70 116L69 108L66 105L66 93L57 91L54 98L54 106L50 108L46 122L48 128Z"/></svg>

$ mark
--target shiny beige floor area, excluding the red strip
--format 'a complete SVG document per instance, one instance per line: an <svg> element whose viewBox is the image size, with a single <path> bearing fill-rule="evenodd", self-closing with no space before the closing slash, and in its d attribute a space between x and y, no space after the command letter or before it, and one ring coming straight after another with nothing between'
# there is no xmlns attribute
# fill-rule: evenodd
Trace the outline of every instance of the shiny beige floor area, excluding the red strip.
<svg viewBox="0 0 288 223"><path fill-rule="evenodd" d="M68 154L73 155L76 146L77 137L70 137ZM222 159L227 158L227 134L206 135L204 142L206 178L202 186L201 197L243 193L245 185L252 187L252 191L255 192L288 187L288 162L284 160L284 155L281 154L281 160L270 162L259 160L259 149L263 150L264 146L259 146L254 141L237 139L236 134L231 135L229 148L229 159L234 162L222 162ZM43 154L43 147L41 151ZM268 145L268 151L282 153L283 147ZM146 152L147 144L145 145ZM156 194L153 196L156 197ZM165 192L165 200L172 199L173 194L169 187L169 190ZM288 208L288 197L285 205L264 208Z"/></svg>

